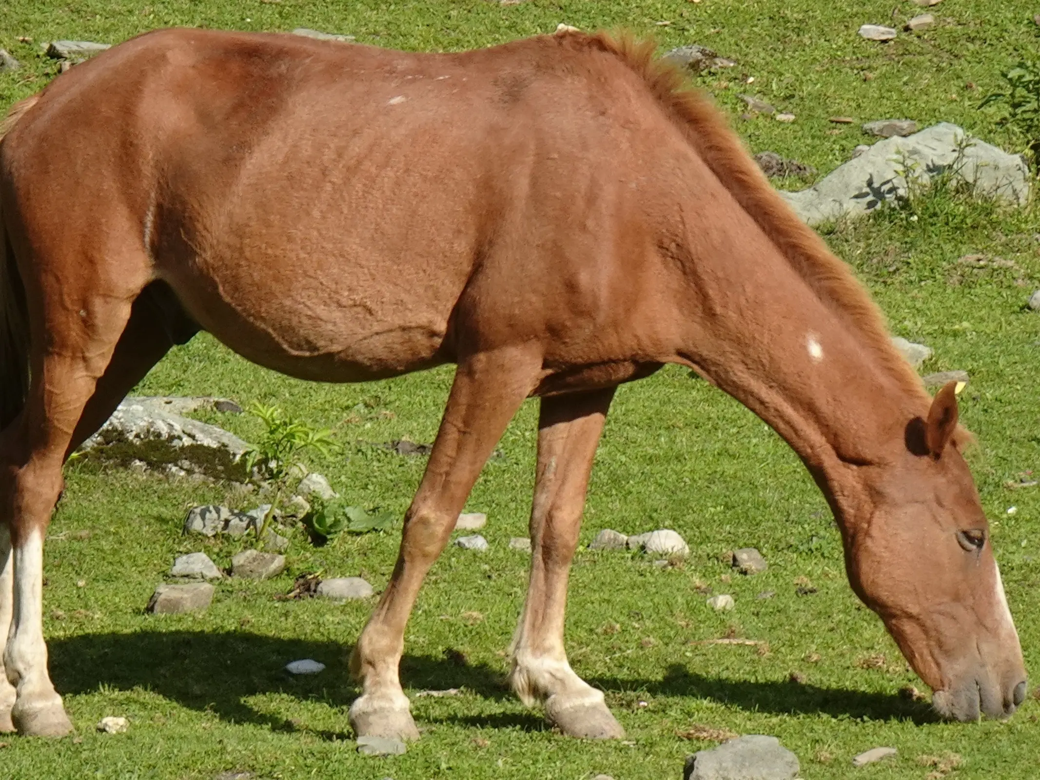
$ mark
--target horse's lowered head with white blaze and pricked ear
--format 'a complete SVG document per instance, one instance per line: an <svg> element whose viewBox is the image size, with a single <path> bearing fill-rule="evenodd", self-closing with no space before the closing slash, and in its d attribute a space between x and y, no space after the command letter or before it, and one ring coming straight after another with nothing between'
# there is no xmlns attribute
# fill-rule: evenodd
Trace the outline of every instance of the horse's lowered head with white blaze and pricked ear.
<svg viewBox="0 0 1040 780"><path fill-rule="evenodd" d="M1006 717L1025 698L1018 633L989 523L956 446L955 383L906 428L895 464L866 467L869 515L846 534L849 579L885 622L940 714Z"/></svg>

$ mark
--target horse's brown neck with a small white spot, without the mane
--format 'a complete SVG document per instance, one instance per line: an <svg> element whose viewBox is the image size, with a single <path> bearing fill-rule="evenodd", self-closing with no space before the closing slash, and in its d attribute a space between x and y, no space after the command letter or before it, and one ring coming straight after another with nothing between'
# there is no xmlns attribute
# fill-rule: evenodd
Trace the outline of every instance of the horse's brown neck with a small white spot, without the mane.
<svg viewBox="0 0 1040 780"><path fill-rule="evenodd" d="M891 463L906 423L927 415L927 396L747 214L716 216L687 238L681 357L776 430L825 493L861 492L849 482L854 467Z"/></svg>

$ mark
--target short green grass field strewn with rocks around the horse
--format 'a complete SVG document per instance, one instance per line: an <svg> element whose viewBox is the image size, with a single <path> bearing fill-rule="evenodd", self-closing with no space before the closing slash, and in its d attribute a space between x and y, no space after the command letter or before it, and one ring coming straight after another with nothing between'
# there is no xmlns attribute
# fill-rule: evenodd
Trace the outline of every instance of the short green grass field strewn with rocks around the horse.
<svg viewBox="0 0 1040 780"><path fill-rule="evenodd" d="M893 11L894 6L894 11ZM1025 0L945 0L938 24L890 45L860 40L863 23L902 26L910 2L818 0L618 2L530 0L499 6L469 2L385 3L303 0L6 0L0 47L24 63L0 74L0 107L42 87L56 73L38 42L116 43L167 25L289 30L307 26L362 43L456 50L548 32L560 22L584 29L628 27L656 34L664 48L710 46L737 60L702 85L734 115L753 151L774 150L826 173L867 141L858 125L908 116L922 126L958 123L1017 151L1023 142L996 116L978 110L999 74L1038 49L1038 10ZM658 22L671 22L661 26ZM20 43L29 36L31 43ZM864 74L873 78L865 79ZM738 83L754 76L753 84ZM728 81L729 84L724 84ZM736 119L739 93L797 114L791 125ZM833 134L832 134L833 133ZM796 186L789 183L789 186ZM799 184L798 186L801 186ZM1040 225L1030 208L1007 212L948 194L827 231L827 239L870 286L892 332L931 345L927 370L963 368L964 422L979 437L970 453L1026 666L1040 661L1040 489L1005 482L1040 469L1040 315L1024 309L1040 286ZM976 271L957 264L978 253L1015 268ZM146 394L199 394L278 404L328 426L344 445L311 459L341 493L365 506L401 514L423 459L371 446L396 438L428 442L451 380L449 368L364 386L305 384L250 365L206 335L174 350L141 384ZM434 568L407 634L407 692L461 687L456 698L418 698L423 738L405 756L367 759L354 750L346 709L356 696L344 647L372 603L277 601L301 572L361 574L381 589L398 535L337 538L315 548L296 529L288 572L265 582L227 581L199 616L144 613L173 557L204 549L227 566L238 547L180 536L186 509L205 502L249 508L228 486L70 465L68 490L47 548L45 630L51 670L78 736L59 742L7 736L0 777L208 780L220 772L258 778L573 778L679 777L683 757L710 743L684 740L694 724L778 736L802 761L806 780L926 778L924 757L957 753L953 778L1031 777L1040 765L1040 702L1009 722L955 725L898 694L917 684L880 621L852 595L840 543L822 496L795 454L760 420L684 370L665 369L623 387L597 457L582 531L679 530L692 555L660 570L638 554L581 549L572 576L568 646L572 664L606 692L629 734L591 744L548 730L503 684L504 650L526 584L525 553L506 549L526 531L534 484L537 404L524 406L489 463L468 508L486 512L491 551L448 549ZM210 413L245 438L248 416ZM1010 506L1017 511L1009 515ZM399 528L399 523L398 523ZM77 535L78 530L88 530ZM733 576L726 550L755 546L770 569ZM808 578L818 592L796 595ZM77 582L82 580L83 587ZM736 599L719 615L698 589ZM776 596L758 600L761 591ZM737 635L768 643L706 646ZM452 661L462 652L466 665ZM879 661L873 656L884 656ZM328 669L290 678L282 668L312 657ZM791 673L801 682L791 681ZM124 716L129 731L99 734L97 721ZM899 749L895 759L853 770L868 748ZM935 777L935 775L932 775Z"/></svg>

